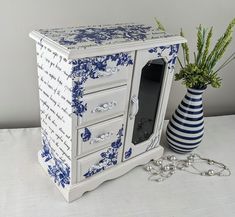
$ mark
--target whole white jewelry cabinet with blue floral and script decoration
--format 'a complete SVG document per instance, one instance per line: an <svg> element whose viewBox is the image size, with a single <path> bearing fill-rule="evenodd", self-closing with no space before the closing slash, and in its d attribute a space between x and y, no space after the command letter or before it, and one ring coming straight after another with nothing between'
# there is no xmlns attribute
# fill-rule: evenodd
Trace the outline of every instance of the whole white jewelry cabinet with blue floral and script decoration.
<svg viewBox="0 0 235 217"><path fill-rule="evenodd" d="M36 41L46 173L72 201L159 158L179 44L151 26L40 29Z"/></svg>

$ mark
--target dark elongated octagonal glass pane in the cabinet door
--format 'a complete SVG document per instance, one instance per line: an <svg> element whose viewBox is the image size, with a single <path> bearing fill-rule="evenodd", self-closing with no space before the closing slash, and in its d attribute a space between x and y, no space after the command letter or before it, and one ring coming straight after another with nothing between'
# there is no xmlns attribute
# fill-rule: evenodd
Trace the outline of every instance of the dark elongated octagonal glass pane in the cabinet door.
<svg viewBox="0 0 235 217"><path fill-rule="evenodd" d="M142 69L139 87L139 111L135 116L132 143L139 144L149 139L155 125L155 117L161 93L165 61L149 61Z"/></svg>

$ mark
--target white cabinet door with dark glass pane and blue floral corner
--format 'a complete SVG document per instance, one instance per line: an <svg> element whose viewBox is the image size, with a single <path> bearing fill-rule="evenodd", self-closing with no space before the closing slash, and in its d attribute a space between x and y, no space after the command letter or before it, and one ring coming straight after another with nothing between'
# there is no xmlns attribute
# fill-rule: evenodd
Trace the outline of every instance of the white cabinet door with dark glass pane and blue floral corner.
<svg viewBox="0 0 235 217"><path fill-rule="evenodd" d="M172 46L137 51L123 160L159 143L178 51Z"/></svg>

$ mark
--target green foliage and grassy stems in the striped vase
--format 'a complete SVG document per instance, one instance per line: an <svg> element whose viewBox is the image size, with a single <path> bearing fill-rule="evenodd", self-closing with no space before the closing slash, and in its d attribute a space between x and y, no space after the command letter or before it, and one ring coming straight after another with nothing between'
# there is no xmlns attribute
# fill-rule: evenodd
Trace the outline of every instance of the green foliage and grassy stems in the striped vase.
<svg viewBox="0 0 235 217"><path fill-rule="evenodd" d="M157 28L165 31L164 26L156 20ZM197 28L197 49L193 52L193 61L190 60L189 47L187 43L181 44L183 50L183 61L178 58L181 69L175 74L175 80L189 88L205 88L208 85L218 88L221 86L221 78L218 72L235 59L233 52L220 66L217 66L226 49L232 41L232 33L235 26L235 18L229 23L224 34L211 48L213 27L206 29L202 25ZM180 35L184 37L181 29Z"/></svg>

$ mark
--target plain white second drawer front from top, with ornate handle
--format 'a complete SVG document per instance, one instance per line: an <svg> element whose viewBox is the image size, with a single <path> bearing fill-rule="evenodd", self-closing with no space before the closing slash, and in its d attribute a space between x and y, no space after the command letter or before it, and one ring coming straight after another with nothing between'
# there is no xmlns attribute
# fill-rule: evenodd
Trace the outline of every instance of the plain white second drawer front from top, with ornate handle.
<svg viewBox="0 0 235 217"><path fill-rule="evenodd" d="M126 85L85 95L83 100L86 103L86 111L82 117L78 117L79 128L122 115L125 111L127 95Z"/></svg>

